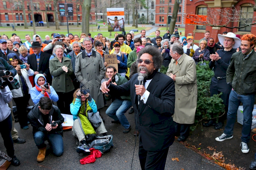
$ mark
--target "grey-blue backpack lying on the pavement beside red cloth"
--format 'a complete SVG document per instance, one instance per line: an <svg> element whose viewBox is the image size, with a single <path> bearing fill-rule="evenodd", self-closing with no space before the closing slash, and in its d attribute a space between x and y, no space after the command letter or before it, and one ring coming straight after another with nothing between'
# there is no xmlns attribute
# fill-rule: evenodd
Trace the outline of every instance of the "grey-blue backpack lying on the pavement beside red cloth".
<svg viewBox="0 0 256 170"><path fill-rule="evenodd" d="M101 153L109 151L114 145L112 139L112 135L96 136L96 139L91 142L89 149L95 148L99 150Z"/></svg>

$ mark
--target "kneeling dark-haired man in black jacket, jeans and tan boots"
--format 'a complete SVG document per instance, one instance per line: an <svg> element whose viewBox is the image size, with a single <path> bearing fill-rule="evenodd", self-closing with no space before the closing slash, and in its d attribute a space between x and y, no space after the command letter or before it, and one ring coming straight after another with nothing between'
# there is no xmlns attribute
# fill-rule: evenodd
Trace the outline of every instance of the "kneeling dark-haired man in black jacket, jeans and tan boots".
<svg viewBox="0 0 256 170"><path fill-rule="evenodd" d="M46 144L49 145L56 156L63 153L63 128L64 118L57 106L53 105L49 97L41 97L39 103L34 105L28 113L28 119L33 127L35 145L39 149L37 161L42 162L45 158Z"/></svg>

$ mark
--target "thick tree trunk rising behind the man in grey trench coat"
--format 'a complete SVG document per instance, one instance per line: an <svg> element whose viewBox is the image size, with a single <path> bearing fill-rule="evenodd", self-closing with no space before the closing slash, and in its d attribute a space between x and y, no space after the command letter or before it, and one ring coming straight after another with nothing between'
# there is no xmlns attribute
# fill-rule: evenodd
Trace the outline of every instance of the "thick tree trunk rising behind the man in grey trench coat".
<svg viewBox="0 0 256 170"><path fill-rule="evenodd" d="M90 28L91 0L84 0L82 7L82 32L88 35Z"/></svg>

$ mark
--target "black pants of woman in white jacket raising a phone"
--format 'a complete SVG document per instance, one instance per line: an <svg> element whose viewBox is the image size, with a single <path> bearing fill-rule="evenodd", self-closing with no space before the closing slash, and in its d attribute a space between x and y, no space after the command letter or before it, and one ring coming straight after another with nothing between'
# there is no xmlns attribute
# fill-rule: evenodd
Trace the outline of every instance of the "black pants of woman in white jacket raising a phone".
<svg viewBox="0 0 256 170"><path fill-rule="evenodd" d="M21 128L28 125L28 117L27 117L27 106L28 101L30 99L30 95L27 93L23 97L13 98L18 112L19 125Z"/></svg>

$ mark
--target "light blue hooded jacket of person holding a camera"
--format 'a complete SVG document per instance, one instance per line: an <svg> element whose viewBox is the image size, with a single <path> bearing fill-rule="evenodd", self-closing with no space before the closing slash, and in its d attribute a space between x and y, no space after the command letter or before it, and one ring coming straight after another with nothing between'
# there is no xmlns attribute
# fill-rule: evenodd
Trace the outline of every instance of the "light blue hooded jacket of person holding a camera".
<svg viewBox="0 0 256 170"><path fill-rule="evenodd" d="M34 79L35 80L35 86L38 86L41 89L41 87L37 84L37 80L38 80L39 77L43 77L45 79L45 82L46 82L46 78L44 77L43 74L35 75L35 79ZM54 90L54 88L52 86L50 86L50 90L51 90L51 94L49 94L50 98L54 102L57 102L58 99L59 99L59 96L57 95L56 91ZM37 104L40 101L40 98L44 97L44 95L41 92L39 92L35 87L33 87L30 90L30 96L31 96L31 99L34 102L34 104Z"/></svg>

